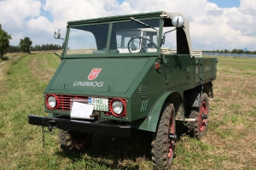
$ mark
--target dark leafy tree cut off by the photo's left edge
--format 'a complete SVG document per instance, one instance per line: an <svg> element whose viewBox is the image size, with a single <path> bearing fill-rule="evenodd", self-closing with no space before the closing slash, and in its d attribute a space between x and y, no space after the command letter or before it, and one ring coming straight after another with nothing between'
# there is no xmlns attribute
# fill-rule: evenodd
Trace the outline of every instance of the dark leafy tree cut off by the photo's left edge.
<svg viewBox="0 0 256 170"><path fill-rule="evenodd" d="M0 57L3 58L3 54L6 54L9 48L9 40L12 37L4 30L2 30L2 25L0 24Z"/></svg>

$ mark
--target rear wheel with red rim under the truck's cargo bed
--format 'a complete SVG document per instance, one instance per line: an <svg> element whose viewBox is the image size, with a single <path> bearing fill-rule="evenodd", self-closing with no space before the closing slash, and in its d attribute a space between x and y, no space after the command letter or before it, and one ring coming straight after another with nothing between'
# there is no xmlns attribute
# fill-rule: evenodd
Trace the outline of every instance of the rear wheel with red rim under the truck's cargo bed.
<svg viewBox="0 0 256 170"><path fill-rule="evenodd" d="M209 99L207 94L201 95L200 108L197 111L192 110L189 117L195 118L195 122L191 122L189 125L192 135L197 139L201 139L207 132L209 119Z"/></svg>

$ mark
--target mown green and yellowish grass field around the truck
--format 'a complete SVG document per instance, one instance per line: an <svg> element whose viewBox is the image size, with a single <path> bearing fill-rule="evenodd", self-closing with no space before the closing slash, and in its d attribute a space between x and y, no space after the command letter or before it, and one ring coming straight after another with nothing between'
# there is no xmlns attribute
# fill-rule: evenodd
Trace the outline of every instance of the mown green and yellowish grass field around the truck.
<svg viewBox="0 0 256 170"><path fill-rule="evenodd" d="M64 154L57 130L26 122L44 113L46 88L60 59L55 54L8 54L0 74L0 169L152 169L150 134L114 140L95 136L90 150ZM183 134L172 169L256 169L256 59L218 58L210 122L199 140Z"/></svg>

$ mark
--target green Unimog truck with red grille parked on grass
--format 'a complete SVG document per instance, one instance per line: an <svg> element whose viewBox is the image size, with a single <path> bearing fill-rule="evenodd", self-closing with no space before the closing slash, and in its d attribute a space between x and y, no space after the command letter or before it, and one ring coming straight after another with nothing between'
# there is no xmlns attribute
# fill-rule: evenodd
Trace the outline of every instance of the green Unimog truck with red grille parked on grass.
<svg viewBox="0 0 256 170"><path fill-rule="evenodd" d="M174 33L175 36L168 37ZM206 133L217 59L195 57L189 20L164 11L67 22L61 64L44 91L47 117L28 123L59 129L63 150L93 134L152 133L156 168L172 166L176 122L197 139ZM175 53L163 50L176 44Z"/></svg>

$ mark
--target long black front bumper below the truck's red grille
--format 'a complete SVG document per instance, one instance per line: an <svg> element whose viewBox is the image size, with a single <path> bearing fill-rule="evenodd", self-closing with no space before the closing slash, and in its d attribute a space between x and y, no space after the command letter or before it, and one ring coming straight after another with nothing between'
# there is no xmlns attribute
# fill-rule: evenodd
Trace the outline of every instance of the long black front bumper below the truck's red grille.
<svg viewBox="0 0 256 170"><path fill-rule="evenodd" d="M131 125L116 125L111 124L108 121L84 122L63 118L28 115L27 122L32 125L49 127L49 129L61 128L68 131L95 133L105 136L131 136Z"/></svg>

